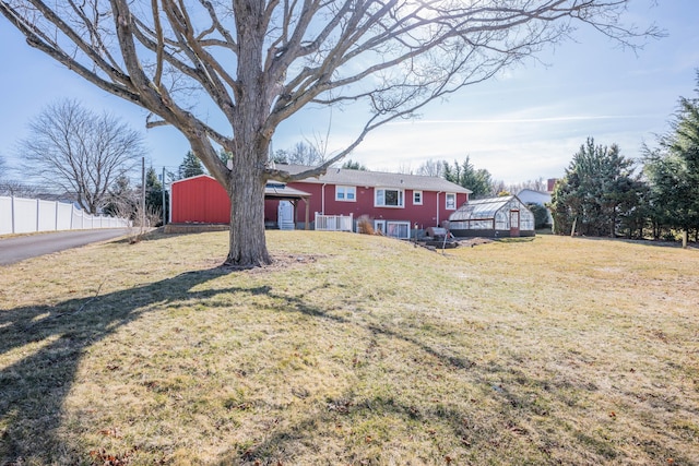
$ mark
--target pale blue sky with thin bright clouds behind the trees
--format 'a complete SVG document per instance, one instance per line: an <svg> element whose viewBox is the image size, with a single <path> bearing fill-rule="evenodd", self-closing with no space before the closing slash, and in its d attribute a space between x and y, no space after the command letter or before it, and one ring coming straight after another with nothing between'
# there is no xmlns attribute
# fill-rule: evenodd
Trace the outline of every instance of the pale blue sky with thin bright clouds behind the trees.
<svg viewBox="0 0 699 466"><path fill-rule="evenodd" d="M487 169L506 183L559 178L588 138L617 144L639 158L668 130L680 96L696 95L699 69L699 2L632 0L627 22L656 23L666 37L642 50L621 49L590 28L549 47L497 77L469 86L447 101L434 101L420 118L389 123L348 156L371 170L416 170L428 159L462 162ZM28 47L0 17L0 156L19 166L16 143L32 118L62 98L108 110L143 131L146 164L176 169L189 145L173 128L145 130L145 110L88 84L48 56ZM329 151L351 139L360 111L307 110L277 130L273 148L328 138ZM15 177L21 179L21 174Z"/></svg>

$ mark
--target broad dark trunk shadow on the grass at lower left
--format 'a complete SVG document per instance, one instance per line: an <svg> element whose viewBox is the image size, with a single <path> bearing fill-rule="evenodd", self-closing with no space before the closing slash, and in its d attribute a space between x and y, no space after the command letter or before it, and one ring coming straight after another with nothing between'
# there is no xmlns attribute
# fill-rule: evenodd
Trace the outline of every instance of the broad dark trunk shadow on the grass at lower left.
<svg viewBox="0 0 699 466"><path fill-rule="evenodd" d="M229 268L188 272L173 278L107 295L67 300L56 306L0 311L0 465L27 458L61 464L56 457L62 405L78 366L90 347L149 312L151 304L206 299L221 292L268 292L261 289L191 291L230 273Z"/></svg>

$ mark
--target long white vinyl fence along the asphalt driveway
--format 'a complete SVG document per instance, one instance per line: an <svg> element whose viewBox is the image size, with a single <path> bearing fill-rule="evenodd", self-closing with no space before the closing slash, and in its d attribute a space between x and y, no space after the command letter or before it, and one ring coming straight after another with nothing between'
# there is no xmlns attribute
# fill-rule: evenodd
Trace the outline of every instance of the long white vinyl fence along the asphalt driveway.
<svg viewBox="0 0 699 466"><path fill-rule="evenodd" d="M90 215L66 202L0 196L0 235L129 226L126 218Z"/></svg>

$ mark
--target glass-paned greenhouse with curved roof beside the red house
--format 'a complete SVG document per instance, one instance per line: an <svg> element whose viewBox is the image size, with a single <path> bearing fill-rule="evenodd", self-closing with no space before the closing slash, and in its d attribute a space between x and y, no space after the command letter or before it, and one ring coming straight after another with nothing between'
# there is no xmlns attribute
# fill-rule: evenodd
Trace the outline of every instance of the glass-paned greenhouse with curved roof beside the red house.
<svg viewBox="0 0 699 466"><path fill-rule="evenodd" d="M469 201L449 216L455 237L534 236L534 214L516 195Z"/></svg>

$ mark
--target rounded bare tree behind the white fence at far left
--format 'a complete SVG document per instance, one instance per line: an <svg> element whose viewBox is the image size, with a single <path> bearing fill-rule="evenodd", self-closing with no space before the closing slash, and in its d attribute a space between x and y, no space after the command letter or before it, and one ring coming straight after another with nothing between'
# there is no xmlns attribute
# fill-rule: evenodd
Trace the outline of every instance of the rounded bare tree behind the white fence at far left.
<svg viewBox="0 0 699 466"><path fill-rule="evenodd" d="M29 136L20 142L19 151L26 174L74 193L91 214L104 207L111 183L144 154L139 132L74 100L50 105L32 120Z"/></svg>

